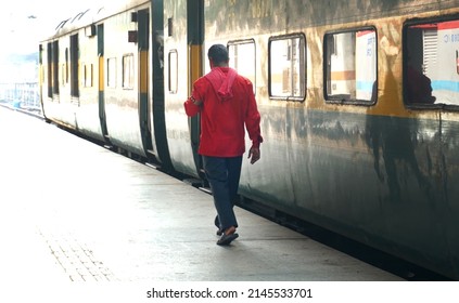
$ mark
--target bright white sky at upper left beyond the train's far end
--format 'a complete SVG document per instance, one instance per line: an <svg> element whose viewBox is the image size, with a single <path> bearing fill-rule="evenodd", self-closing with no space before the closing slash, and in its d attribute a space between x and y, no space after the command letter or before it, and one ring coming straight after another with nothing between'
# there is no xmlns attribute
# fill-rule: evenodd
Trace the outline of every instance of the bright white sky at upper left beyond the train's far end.
<svg viewBox="0 0 459 303"><path fill-rule="evenodd" d="M0 83L38 80L34 62L40 40L63 19L100 8L103 0L9 0L0 10ZM110 0L109 0L110 1ZM38 58L38 56L37 56Z"/></svg>

